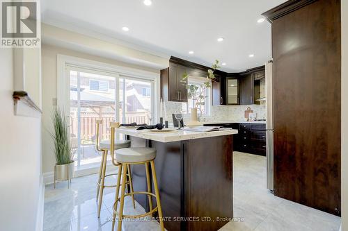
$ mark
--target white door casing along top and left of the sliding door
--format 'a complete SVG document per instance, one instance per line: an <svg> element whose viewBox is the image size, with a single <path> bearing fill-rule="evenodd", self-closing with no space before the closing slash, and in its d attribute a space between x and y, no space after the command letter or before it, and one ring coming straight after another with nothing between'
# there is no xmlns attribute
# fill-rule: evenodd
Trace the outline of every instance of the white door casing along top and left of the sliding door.
<svg viewBox="0 0 348 231"><path fill-rule="evenodd" d="M83 37L82 37L83 38ZM53 151L52 139L49 136L49 131L52 130L51 113L53 109L52 99L57 97L57 54L70 55L86 60L95 60L111 65L122 67L131 67L150 71L159 74L159 69L132 65L126 62L103 58L95 55L65 49L59 46L42 45L42 171L49 178L52 176L54 164L56 162Z"/></svg>

